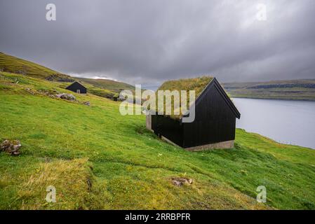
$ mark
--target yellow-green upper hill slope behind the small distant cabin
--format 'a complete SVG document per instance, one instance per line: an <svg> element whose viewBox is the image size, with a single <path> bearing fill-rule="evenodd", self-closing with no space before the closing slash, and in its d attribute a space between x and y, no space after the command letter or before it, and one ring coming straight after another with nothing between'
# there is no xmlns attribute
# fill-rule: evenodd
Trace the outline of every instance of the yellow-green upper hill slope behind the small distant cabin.
<svg viewBox="0 0 315 224"><path fill-rule="evenodd" d="M6 55L3 52L0 52L0 71L18 73L25 76L32 76L33 78L62 82L60 83L60 87L64 88L77 80L88 87L88 92L109 99L112 99L115 95L118 95L121 90L134 90L133 85L117 82L114 80L76 78L68 76L34 62L29 62L25 59Z"/></svg>

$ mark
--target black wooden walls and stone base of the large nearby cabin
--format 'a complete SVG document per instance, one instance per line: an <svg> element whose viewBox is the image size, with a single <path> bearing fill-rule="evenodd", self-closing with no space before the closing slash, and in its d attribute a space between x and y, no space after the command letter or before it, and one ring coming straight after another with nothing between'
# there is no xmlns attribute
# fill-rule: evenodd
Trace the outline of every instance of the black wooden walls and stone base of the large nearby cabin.
<svg viewBox="0 0 315 224"><path fill-rule="evenodd" d="M182 123L182 118L149 115L147 128L166 141L191 151L233 148L236 118L241 114L215 78L204 87L194 104L192 123Z"/></svg>

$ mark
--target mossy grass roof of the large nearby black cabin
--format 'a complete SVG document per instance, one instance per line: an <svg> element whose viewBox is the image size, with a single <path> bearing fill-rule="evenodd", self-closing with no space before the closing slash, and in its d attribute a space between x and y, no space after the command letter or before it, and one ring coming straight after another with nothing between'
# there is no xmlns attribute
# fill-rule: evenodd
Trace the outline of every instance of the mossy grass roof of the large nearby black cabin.
<svg viewBox="0 0 315 224"><path fill-rule="evenodd" d="M181 90L186 90L187 91L187 108L189 109L189 107L194 103L194 102L189 102L189 92L194 90L195 91L195 99L197 99L201 92L203 92L203 90L206 88L206 86L208 85L208 83L210 83L210 81L213 80L213 77L211 76L201 76L201 77L197 77L197 78L185 78L185 79L178 79L178 80L168 80L165 83L163 83L158 90L156 90L156 95L158 93L159 90L170 90L170 92L172 92L173 90L177 90L177 91L181 91ZM166 102L165 102L165 98L164 97L164 114L166 112ZM161 110L161 108L158 108L158 101L157 101L157 97L156 97L156 111ZM180 96L181 99L181 96ZM174 99L172 97L171 100L171 115L167 115L170 116L170 118L174 118L174 119L180 119L182 117L182 111L181 111L181 105L179 106L175 106L174 107ZM167 105L169 106L169 105ZM180 113L175 114L175 113Z"/></svg>

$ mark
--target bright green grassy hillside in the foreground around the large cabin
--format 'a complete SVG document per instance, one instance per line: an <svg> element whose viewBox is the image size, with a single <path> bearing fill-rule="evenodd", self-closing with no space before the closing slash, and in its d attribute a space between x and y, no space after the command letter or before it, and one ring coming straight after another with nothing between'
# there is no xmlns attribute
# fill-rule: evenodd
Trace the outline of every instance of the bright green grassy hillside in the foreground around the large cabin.
<svg viewBox="0 0 315 224"><path fill-rule="evenodd" d="M231 150L187 152L118 102L50 97L67 92L59 85L1 73L0 140L19 139L22 154L0 153L0 209L315 209L315 151L237 130ZM261 185L267 204L255 200Z"/></svg>

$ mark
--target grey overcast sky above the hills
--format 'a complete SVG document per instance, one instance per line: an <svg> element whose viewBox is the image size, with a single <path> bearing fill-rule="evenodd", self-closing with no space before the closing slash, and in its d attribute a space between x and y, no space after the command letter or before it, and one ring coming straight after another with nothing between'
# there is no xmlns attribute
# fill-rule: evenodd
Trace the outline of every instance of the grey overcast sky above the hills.
<svg viewBox="0 0 315 224"><path fill-rule="evenodd" d="M48 3L56 21L46 20ZM315 78L314 27L314 0L0 1L1 52L133 84L201 74L221 82Z"/></svg>

